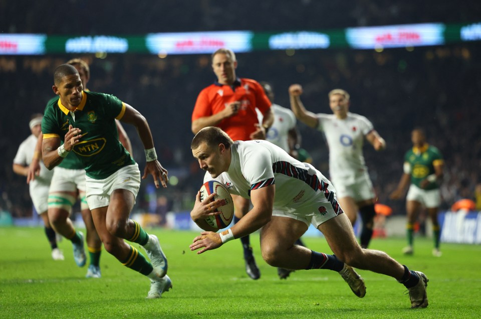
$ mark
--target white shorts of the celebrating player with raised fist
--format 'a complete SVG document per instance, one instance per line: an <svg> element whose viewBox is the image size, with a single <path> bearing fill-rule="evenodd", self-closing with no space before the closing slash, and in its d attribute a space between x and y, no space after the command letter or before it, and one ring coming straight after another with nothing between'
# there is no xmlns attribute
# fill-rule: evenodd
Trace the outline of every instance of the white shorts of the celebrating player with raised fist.
<svg viewBox="0 0 481 319"><path fill-rule="evenodd" d="M370 200L375 197L369 174L365 173L349 178L331 177L337 198L351 197L355 202Z"/></svg>

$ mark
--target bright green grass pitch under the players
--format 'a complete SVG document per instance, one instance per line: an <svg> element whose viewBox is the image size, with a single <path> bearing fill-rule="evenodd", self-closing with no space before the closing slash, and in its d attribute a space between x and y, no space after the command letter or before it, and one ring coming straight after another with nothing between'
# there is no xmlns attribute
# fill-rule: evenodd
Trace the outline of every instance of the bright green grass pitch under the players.
<svg viewBox="0 0 481 319"><path fill-rule="evenodd" d="M59 244L66 260L54 261L43 228L0 228L0 318L481 317L479 245L443 244L442 257L435 258L429 239L416 239L414 256L401 254L402 238L373 240L371 248L429 277L429 306L410 309L401 284L369 271L359 271L367 286L362 299L329 270L296 271L280 280L277 270L262 260L257 234L252 242L262 276L254 281L244 271L238 241L197 255L188 249L193 232L148 231L159 237L173 282L173 289L155 300L145 299L149 280L105 250L102 278L86 279L87 267L75 265L69 241ZM322 238L305 242L330 252Z"/></svg>

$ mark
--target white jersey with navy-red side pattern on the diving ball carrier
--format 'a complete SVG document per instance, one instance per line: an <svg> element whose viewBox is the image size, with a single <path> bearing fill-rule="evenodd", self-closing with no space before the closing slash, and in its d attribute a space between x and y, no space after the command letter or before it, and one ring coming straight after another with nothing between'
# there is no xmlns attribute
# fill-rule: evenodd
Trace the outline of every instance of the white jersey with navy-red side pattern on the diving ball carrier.
<svg viewBox="0 0 481 319"><path fill-rule="evenodd" d="M212 179L206 172L204 183L216 180L229 193L250 198L251 191L275 185L274 210L294 212L307 203L330 202L341 212L334 188L312 165L301 163L279 146L265 140L235 141L230 147L232 159L227 172Z"/></svg>

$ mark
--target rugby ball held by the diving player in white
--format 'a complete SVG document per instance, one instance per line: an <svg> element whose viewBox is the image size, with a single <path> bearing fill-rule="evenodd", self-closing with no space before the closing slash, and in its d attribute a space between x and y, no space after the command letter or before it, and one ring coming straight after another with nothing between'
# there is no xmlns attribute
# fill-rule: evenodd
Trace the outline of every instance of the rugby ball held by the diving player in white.
<svg viewBox="0 0 481 319"><path fill-rule="evenodd" d="M221 199L221 205L214 210L214 212L220 212L218 215L208 216L205 221L210 226L222 229L229 226L232 218L234 217L234 203L232 202L232 196L225 186L217 181L205 182L200 188L200 201L202 202L210 194L215 194L211 202Z"/></svg>

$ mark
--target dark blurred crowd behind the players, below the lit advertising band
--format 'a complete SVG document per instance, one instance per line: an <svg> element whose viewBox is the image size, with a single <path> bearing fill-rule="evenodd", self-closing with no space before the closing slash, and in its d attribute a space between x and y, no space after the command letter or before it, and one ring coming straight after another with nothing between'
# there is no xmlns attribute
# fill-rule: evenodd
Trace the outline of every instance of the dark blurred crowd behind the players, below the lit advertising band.
<svg viewBox="0 0 481 319"><path fill-rule="evenodd" d="M255 52L238 54L237 75L271 82L275 102L286 107L287 88L300 83L306 107L316 113L330 113L327 93L331 89L347 90L351 111L368 117L387 142L381 152L365 147L378 200L393 207L394 214L404 214L404 202L390 201L388 194L402 175L404 153L412 146L410 131L416 126L426 130L428 142L445 158L441 209L460 198L474 199L475 185L481 182L477 110L481 63L474 58L480 54L477 44L413 51ZM165 196L163 210L189 210L203 176L190 153L190 117L197 94L214 80L209 55L80 57L91 66L90 90L114 94L147 117L160 162L169 170L169 188L152 193L152 182L143 182L136 208L153 212L156 197ZM31 201L25 179L12 172L12 159L30 134L30 115L43 111L53 96L53 70L70 58L0 57L4 100L0 193L2 206L16 217L31 214ZM143 146L133 127L124 126L142 168ZM314 166L328 176L328 148L322 134L302 123L298 128Z"/></svg>

